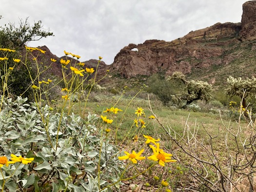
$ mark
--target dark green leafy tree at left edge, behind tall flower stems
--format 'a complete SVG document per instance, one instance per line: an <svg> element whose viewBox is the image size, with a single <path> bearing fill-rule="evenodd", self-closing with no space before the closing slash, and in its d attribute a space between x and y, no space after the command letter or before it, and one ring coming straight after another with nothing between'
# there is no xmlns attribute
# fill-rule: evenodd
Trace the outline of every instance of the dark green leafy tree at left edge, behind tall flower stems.
<svg viewBox="0 0 256 192"><path fill-rule="evenodd" d="M9 69L9 67L13 67L15 65L12 58L20 58L22 50L24 50L24 45L30 41L36 41L48 36L53 36L53 33L44 30L40 20L35 22L32 26L28 23L28 18L25 20L20 19L18 26L15 26L13 23L0 26L0 48L16 50L16 52L8 53L8 58L10 59L8 59L7 66L4 66L4 61L0 61L1 72L4 71L4 67ZM5 57L5 54L6 53L4 52L0 52L0 58ZM27 61L27 64L29 64L29 61ZM30 74L35 77L33 73L33 66ZM5 77L1 75L2 82L4 78ZM31 93L27 88L30 84L31 80L29 78L27 68L19 63L19 65L16 65L13 69L12 75L8 78L8 90L16 96L20 96L25 92L23 96L29 97ZM3 84L0 84L0 90L3 90L2 86Z"/></svg>

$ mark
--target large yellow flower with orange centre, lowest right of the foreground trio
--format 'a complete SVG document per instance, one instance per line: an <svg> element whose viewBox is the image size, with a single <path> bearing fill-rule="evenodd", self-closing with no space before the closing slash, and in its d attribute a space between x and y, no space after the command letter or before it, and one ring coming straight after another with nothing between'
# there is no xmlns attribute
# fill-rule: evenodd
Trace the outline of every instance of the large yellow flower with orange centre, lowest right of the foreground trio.
<svg viewBox="0 0 256 192"><path fill-rule="evenodd" d="M157 148L153 145L149 145L149 147L153 150L153 155L149 156L149 160L158 161L159 165L164 167L164 163L166 162L176 162L176 160L171 160L172 154L165 153L162 149L159 149L159 143L156 143Z"/></svg>

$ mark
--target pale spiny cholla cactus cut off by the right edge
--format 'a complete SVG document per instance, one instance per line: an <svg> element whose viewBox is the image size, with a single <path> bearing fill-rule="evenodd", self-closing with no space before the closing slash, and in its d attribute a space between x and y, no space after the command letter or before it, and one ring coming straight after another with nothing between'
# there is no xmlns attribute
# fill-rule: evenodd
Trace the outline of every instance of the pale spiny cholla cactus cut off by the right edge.
<svg viewBox="0 0 256 192"><path fill-rule="evenodd" d="M247 107L247 99L256 97L256 78L228 77L228 87L225 89L228 96L239 96L242 106Z"/></svg>

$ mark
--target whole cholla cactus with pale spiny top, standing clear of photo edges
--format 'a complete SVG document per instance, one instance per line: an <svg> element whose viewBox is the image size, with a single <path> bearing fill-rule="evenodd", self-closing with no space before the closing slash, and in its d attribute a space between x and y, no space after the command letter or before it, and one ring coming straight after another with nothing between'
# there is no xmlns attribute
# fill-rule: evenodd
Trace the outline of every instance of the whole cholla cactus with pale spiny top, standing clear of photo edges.
<svg viewBox="0 0 256 192"><path fill-rule="evenodd" d="M175 72L168 80L180 81L185 86L185 93L177 94L174 97L181 101L185 100L186 104L182 108L186 108L187 105L196 100L203 100L209 102L212 98L211 91L212 86L205 81L199 80L187 80L181 72Z"/></svg>

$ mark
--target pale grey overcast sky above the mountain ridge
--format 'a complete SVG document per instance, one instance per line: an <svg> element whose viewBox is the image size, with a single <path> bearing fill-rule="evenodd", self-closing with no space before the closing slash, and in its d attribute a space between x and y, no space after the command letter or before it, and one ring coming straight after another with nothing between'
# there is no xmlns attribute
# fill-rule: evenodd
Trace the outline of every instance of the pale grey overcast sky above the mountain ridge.
<svg viewBox="0 0 256 192"><path fill-rule="evenodd" d="M63 50L80 61L103 57L111 64L120 49L147 39L171 41L217 22L241 22L247 0L0 0L0 25L41 20L54 37L28 44Z"/></svg>

